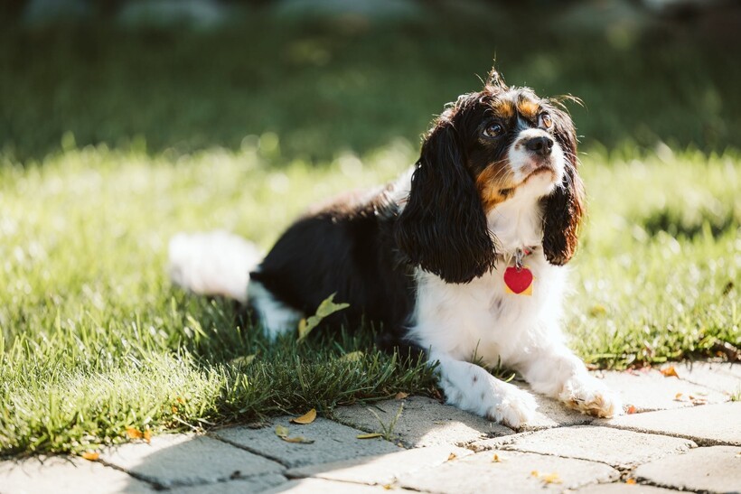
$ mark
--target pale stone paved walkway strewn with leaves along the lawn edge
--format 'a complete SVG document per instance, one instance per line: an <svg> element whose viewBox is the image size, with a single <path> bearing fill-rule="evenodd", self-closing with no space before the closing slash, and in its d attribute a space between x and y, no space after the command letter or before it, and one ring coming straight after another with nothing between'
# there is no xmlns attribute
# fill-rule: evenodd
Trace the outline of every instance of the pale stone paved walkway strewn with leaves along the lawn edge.
<svg viewBox="0 0 741 494"><path fill-rule="evenodd" d="M679 377L598 372L632 405L632 414L611 420L541 397L537 420L513 431L429 398L399 396L305 425L279 417L258 429L165 434L98 461L4 461L0 493L741 491L741 402L731 401L741 393L741 365L675 368ZM380 422L391 441L358 437L383 432ZM281 440L278 425L313 443Z"/></svg>

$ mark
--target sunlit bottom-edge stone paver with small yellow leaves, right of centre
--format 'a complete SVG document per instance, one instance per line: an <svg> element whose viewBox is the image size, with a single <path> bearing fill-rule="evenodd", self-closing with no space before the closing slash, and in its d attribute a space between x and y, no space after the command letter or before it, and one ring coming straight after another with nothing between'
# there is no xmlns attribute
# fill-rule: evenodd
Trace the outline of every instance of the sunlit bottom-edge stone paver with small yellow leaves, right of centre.
<svg viewBox="0 0 741 494"><path fill-rule="evenodd" d="M500 461L492 461L494 453ZM550 483L547 479L550 476ZM590 483L617 480L618 471L594 461L558 458L531 452L480 452L435 469L399 479L400 487L433 492L561 492Z"/></svg>

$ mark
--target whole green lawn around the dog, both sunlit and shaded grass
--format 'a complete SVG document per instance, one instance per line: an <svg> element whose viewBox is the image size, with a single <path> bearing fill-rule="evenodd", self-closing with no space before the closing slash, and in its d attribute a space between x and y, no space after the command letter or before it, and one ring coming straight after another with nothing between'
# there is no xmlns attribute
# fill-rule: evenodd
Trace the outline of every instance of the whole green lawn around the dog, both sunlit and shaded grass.
<svg viewBox="0 0 741 494"><path fill-rule="evenodd" d="M741 68L692 35L521 40L505 21L501 42L435 21L0 31L0 454L434 394L370 329L267 344L232 303L174 289L166 247L225 228L268 248L312 201L393 178L494 50L512 83L586 100L579 355L623 368L741 346Z"/></svg>

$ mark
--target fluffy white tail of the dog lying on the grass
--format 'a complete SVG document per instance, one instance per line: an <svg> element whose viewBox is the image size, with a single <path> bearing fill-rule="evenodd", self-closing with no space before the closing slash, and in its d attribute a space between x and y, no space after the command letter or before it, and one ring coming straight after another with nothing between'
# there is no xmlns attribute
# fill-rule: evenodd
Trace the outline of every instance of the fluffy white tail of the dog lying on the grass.
<svg viewBox="0 0 741 494"><path fill-rule="evenodd" d="M247 302L249 272L261 255L251 242L226 231L185 234L170 240L170 279L195 294Z"/></svg>

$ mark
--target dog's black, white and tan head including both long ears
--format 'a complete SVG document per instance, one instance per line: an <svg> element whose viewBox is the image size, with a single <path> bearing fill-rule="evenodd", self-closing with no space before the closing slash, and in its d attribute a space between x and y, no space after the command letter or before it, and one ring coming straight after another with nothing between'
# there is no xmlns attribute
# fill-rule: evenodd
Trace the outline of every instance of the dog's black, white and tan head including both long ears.
<svg viewBox="0 0 741 494"><path fill-rule="evenodd" d="M492 70L427 133L395 229L399 249L446 282L468 283L496 261L486 215L522 192L540 198L549 263L566 264L584 210L575 132L558 101L510 88Z"/></svg>

